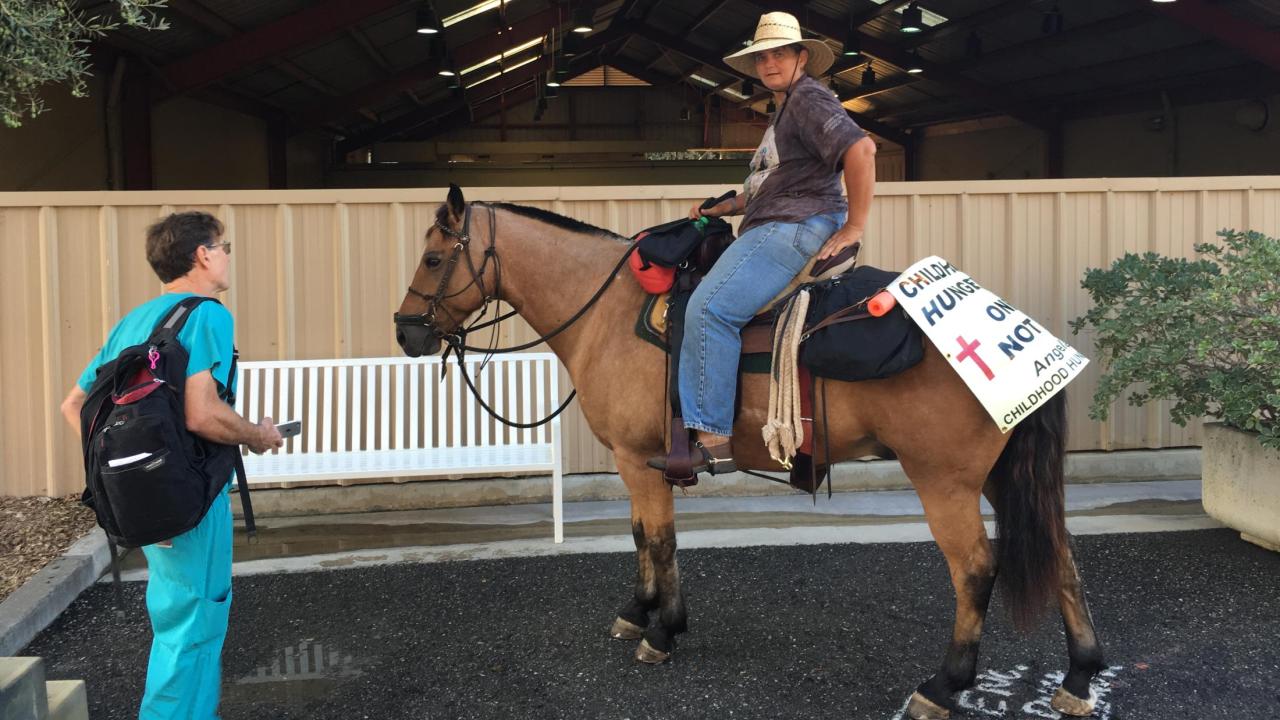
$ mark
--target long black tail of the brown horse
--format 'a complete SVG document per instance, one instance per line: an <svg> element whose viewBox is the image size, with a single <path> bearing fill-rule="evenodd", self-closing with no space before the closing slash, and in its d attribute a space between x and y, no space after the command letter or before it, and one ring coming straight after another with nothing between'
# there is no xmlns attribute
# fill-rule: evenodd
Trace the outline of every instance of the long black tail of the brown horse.
<svg viewBox="0 0 1280 720"><path fill-rule="evenodd" d="M1014 624L1029 629L1057 593L1068 548L1062 465L1066 393L1060 392L1014 428L991 469L995 486L997 578Z"/></svg>

